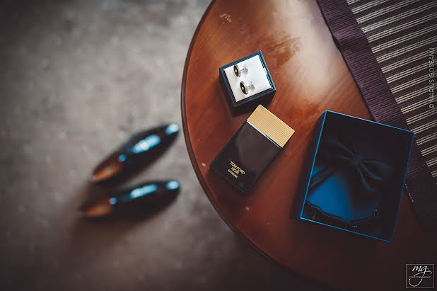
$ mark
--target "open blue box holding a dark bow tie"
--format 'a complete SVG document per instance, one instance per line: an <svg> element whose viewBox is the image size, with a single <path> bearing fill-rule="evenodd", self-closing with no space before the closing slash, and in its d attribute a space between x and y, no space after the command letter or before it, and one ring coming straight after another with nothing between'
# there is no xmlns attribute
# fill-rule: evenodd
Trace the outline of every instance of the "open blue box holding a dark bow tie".
<svg viewBox="0 0 437 291"><path fill-rule="evenodd" d="M325 111L317 120L298 219L392 241L414 132Z"/></svg>

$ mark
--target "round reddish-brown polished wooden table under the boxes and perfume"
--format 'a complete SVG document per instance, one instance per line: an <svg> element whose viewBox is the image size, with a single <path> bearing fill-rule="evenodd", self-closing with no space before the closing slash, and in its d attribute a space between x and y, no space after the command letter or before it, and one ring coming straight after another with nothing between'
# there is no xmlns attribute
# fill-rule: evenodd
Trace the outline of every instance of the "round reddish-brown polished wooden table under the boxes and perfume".
<svg viewBox="0 0 437 291"><path fill-rule="evenodd" d="M219 67L262 50L276 85L267 109L296 133L240 195L209 164L250 113L232 115ZM192 38L182 77L185 142L212 205L247 243L293 271L332 287L402 290L406 263L433 263L437 239L402 196L390 244L295 219L315 121L325 110L371 119L315 0L217 0Z"/></svg>

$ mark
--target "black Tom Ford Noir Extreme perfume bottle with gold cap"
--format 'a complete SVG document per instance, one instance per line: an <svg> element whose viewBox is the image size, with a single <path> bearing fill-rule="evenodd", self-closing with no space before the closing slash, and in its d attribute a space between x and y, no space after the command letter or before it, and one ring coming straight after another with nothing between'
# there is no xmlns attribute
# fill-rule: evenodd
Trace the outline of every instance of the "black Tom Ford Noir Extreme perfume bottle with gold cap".
<svg viewBox="0 0 437 291"><path fill-rule="evenodd" d="M246 194L293 133L291 127L258 105L209 168Z"/></svg>

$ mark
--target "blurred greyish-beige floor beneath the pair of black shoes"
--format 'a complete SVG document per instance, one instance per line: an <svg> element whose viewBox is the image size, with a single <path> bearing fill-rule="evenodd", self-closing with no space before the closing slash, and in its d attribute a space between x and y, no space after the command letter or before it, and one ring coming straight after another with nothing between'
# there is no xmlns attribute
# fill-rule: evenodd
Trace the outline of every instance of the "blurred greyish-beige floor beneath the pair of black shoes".
<svg viewBox="0 0 437 291"><path fill-rule="evenodd" d="M136 130L181 125L182 69L208 2L0 4L0 290L325 290L233 234L182 134L126 184L177 178L170 207L139 222L77 217L105 154Z"/></svg>

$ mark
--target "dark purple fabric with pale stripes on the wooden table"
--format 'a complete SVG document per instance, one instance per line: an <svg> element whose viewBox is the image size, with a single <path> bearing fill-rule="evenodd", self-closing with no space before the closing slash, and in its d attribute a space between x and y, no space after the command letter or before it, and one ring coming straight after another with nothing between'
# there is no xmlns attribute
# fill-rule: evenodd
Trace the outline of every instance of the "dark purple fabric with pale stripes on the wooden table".
<svg viewBox="0 0 437 291"><path fill-rule="evenodd" d="M436 230L437 0L317 1L373 118L415 133L405 188Z"/></svg>

